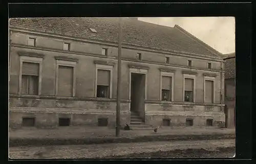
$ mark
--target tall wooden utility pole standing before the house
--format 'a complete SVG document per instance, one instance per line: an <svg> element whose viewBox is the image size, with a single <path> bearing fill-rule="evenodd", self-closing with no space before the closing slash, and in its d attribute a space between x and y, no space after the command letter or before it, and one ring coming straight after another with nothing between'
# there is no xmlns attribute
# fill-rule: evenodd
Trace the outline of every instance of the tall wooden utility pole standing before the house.
<svg viewBox="0 0 256 164"><path fill-rule="evenodd" d="M121 100L121 52L122 52L122 18L119 18L118 63L117 63L117 102L116 102L116 136L120 134L120 100Z"/></svg>

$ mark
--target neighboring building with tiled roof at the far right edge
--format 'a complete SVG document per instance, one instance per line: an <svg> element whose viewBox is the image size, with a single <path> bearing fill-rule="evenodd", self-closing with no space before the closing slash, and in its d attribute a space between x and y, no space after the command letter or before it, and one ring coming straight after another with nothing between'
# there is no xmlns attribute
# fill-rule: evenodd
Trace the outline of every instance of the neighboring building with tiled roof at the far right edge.
<svg viewBox="0 0 256 164"><path fill-rule="evenodd" d="M227 54L225 65L226 127L236 126L236 53Z"/></svg>

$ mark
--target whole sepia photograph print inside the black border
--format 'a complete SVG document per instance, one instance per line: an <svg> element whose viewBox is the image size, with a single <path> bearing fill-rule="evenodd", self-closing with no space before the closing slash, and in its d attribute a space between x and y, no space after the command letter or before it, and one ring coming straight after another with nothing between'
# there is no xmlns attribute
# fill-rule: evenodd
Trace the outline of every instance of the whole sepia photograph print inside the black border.
<svg viewBox="0 0 256 164"><path fill-rule="evenodd" d="M9 158L232 158L234 17L9 19Z"/></svg>

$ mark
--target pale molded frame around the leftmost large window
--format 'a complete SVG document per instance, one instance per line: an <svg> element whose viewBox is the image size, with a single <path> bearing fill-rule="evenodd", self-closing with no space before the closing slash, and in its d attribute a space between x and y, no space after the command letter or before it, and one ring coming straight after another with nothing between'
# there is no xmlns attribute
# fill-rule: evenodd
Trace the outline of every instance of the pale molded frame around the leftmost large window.
<svg viewBox="0 0 256 164"><path fill-rule="evenodd" d="M18 77L18 94L22 93L22 68L23 62L36 63L39 64L39 75L38 75L38 93L41 95L41 84L42 84L42 57L29 57L29 56L20 56L19 57L19 77ZM36 95L34 95L36 96Z"/></svg>

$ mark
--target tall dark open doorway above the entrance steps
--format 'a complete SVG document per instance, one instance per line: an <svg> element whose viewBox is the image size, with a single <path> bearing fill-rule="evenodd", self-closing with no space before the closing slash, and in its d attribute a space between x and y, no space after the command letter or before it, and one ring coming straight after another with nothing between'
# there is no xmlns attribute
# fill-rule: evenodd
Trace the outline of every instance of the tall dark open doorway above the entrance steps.
<svg viewBox="0 0 256 164"><path fill-rule="evenodd" d="M131 73L131 113L145 118L145 74Z"/></svg>

